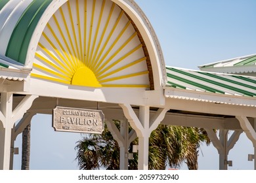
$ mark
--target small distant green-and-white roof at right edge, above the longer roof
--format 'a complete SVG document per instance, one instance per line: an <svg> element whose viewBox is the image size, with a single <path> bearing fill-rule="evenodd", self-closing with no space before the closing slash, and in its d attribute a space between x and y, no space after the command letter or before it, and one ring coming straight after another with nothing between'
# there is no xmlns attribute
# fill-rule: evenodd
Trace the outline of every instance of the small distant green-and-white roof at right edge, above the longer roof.
<svg viewBox="0 0 256 183"><path fill-rule="evenodd" d="M202 71L256 76L256 54L200 65Z"/></svg>

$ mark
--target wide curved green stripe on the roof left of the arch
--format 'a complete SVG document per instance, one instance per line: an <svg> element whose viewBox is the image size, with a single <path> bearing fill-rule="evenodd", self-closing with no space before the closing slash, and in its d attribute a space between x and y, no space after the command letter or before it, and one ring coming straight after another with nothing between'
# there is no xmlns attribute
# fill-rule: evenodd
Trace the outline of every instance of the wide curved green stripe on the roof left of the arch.
<svg viewBox="0 0 256 183"><path fill-rule="evenodd" d="M53 0L34 0L23 12L12 32L6 56L25 64L33 31L45 9Z"/></svg>

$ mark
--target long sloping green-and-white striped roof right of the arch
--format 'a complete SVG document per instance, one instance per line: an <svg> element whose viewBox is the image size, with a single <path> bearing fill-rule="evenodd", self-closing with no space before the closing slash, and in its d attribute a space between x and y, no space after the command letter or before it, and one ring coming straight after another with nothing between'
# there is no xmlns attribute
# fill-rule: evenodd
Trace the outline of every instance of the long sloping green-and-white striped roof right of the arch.
<svg viewBox="0 0 256 183"><path fill-rule="evenodd" d="M166 67L167 86L198 92L256 97L256 77Z"/></svg>

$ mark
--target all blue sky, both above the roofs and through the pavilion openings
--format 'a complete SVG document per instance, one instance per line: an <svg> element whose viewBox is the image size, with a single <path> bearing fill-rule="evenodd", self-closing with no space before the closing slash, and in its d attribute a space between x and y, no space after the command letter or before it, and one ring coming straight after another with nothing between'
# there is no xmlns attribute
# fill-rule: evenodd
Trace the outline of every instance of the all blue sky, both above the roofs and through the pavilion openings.
<svg viewBox="0 0 256 183"><path fill-rule="evenodd" d="M198 65L256 53L256 1L254 0L136 0L160 40L165 64L188 69ZM21 146L20 135L16 146ZM51 116L32 119L31 169L78 169L75 142L79 133L55 132ZM20 148L21 151L21 148ZM253 169L247 161L253 146L242 134L230 151L233 167ZM199 169L219 169L213 146L202 145ZM20 169L21 152L14 156ZM181 167L186 169L184 165Z"/></svg>

